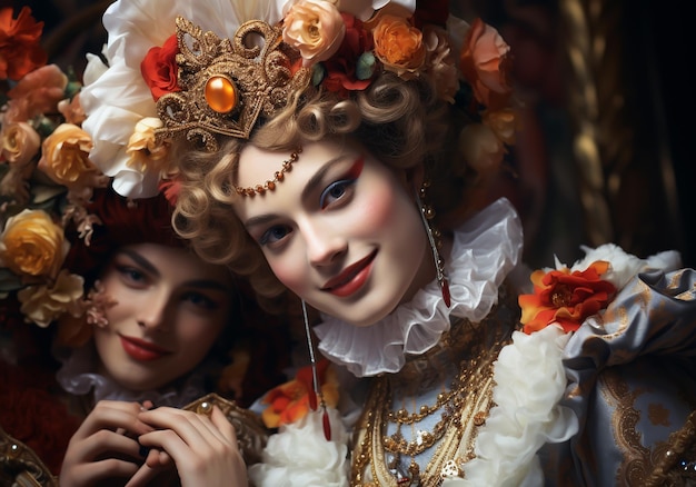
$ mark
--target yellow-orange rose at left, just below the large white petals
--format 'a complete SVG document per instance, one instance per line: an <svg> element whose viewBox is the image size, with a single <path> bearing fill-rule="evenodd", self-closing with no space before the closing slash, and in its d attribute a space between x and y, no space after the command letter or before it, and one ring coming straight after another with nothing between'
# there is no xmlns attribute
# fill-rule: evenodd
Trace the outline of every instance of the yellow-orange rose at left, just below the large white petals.
<svg viewBox="0 0 696 487"><path fill-rule="evenodd" d="M90 136L72 123L58 126L43 141L39 169L59 185L72 187L97 169L89 160L92 149Z"/></svg>

